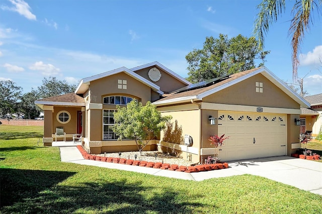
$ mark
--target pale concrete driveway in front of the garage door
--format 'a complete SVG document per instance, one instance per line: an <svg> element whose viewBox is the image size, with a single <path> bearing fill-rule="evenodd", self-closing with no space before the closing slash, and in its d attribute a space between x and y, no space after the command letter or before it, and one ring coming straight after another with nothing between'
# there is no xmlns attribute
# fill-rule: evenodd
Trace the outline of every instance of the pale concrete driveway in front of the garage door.
<svg viewBox="0 0 322 214"><path fill-rule="evenodd" d="M322 195L322 163L288 156L230 161L228 169L198 172L196 180L252 174ZM216 174L216 175L215 175Z"/></svg>

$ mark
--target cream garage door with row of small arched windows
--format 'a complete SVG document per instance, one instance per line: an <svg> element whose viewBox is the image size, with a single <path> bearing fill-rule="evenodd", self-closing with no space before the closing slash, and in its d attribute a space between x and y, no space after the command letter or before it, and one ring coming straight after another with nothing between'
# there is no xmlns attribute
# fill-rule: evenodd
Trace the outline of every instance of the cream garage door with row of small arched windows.
<svg viewBox="0 0 322 214"><path fill-rule="evenodd" d="M286 115L218 112L218 134L225 134L224 160L286 155Z"/></svg>

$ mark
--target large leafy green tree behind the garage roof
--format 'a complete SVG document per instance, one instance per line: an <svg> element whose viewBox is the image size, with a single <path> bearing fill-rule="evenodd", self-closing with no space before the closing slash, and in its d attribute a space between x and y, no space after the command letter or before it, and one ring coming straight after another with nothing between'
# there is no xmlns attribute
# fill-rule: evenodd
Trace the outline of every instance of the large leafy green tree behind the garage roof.
<svg viewBox="0 0 322 214"><path fill-rule="evenodd" d="M269 51L260 52L254 37L241 35L228 39L227 35L219 34L219 38L206 37L202 49L194 49L186 55L188 80L195 83L226 74L255 67L255 59L265 62Z"/></svg>

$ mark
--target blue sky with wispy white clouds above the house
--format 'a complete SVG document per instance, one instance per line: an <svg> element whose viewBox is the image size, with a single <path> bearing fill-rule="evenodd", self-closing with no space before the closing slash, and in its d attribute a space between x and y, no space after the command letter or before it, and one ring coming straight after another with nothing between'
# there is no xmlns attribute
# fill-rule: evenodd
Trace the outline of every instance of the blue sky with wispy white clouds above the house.
<svg viewBox="0 0 322 214"><path fill-rule="evenodd" d="M205 38L252 36L260 1L85 1L1 0L0 80L12 80L23 93L44 77L77 80L158 61L188 76L185 56ZM288 28L293 2L265 39L265 66L292 82ZM298 76L304 90L322 93L322 18L301 46Z"/></svg>

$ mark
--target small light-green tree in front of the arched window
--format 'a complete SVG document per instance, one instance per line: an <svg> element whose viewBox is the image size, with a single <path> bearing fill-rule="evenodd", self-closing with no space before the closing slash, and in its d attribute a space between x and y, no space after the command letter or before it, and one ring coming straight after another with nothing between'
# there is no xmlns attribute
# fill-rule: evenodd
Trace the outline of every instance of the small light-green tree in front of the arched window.
<svg viewBox="0 0 322 214"><path fill-rule="evenodd" d="M150 140L165 129L166 123L172 118L171 116L162 117L150 101L142 106L141 102L133 100L126 108L117 105L116 109L115 125L111 126L111 129L119 136L119 140L135 140L140 155Z"/></svg>

